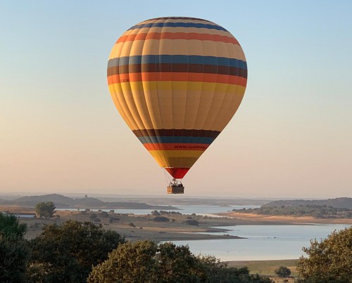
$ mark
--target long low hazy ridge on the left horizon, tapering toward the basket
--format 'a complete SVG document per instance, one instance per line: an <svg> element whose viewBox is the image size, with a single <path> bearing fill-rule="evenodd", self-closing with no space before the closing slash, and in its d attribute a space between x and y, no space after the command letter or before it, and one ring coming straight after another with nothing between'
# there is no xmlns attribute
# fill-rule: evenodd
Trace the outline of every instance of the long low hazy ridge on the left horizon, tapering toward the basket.
<svg viewBox="0 0 352 283"><path fill-rule="evenodd" d="M141 202L103 202L94 197L71 198L50 194L19 197L11 201L0 199L0 205L34 207L39 202L54 202L56 209L166 209L177 210L174 206L149 205Z"/></svg>

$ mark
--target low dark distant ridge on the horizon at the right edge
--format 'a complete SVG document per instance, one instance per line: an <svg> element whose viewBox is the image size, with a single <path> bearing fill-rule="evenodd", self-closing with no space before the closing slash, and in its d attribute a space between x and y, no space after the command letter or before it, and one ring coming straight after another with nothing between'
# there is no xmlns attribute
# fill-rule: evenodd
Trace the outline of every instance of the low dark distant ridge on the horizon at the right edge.
<svg viewBox="0 0 352 283"><path fill-rule="evenodd" d="M352 209L352 198L351 197L337 197L336 199L291 199L291 200L275 200L263 204L261 207L272 207L272 206L306 206L306 205L319 205L319 206L333 206L339 209Z"/></svg>

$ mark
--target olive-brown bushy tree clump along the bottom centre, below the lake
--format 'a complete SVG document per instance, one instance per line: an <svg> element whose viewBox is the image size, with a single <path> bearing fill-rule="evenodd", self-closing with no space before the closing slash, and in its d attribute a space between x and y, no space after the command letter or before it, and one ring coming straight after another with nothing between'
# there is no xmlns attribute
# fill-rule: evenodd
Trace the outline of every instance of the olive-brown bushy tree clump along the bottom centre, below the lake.
<svg viewBox="0 0 352 283"><path fill-rule="evenodd" d="M96 265L90 283L182 283L182 282L271 282L249 275L248 268L227 268L212 256L194 256L188 246L156 244L150 240L127 242L118 246L108 260Z"/></svg>

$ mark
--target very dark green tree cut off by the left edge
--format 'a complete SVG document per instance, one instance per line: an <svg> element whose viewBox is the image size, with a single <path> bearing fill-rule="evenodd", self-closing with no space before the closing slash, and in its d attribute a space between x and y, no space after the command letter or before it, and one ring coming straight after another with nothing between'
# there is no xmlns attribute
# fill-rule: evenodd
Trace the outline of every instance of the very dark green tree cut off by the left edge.
<svg viewBox="0 0 352 283"><path fill-rule="evenodd" d="M30 249L23 239L27 225L0 213L0 282L25 282Z"/></svg>

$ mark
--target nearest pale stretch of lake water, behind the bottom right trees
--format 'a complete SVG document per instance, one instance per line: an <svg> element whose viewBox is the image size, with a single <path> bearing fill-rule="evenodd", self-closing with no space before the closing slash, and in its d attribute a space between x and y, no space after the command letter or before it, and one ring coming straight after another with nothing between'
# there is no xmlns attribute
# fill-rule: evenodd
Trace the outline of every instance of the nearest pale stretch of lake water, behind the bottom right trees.
<svg viewBox="0 0 352 283"><path fill-rule="evenodd" d="M293 259L303 255L302 247L310 246L310 239L322 239L332 231L351 225L237 225L223 226L229 234L247 239L210 239L174 241L189 245L193 254L212 255L222 261L260 261ZM213 234L213 233L212 233ZM306 254L305 254L306 255Z"/></svg>

